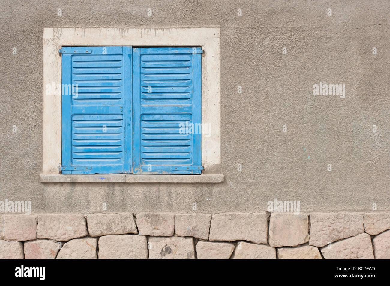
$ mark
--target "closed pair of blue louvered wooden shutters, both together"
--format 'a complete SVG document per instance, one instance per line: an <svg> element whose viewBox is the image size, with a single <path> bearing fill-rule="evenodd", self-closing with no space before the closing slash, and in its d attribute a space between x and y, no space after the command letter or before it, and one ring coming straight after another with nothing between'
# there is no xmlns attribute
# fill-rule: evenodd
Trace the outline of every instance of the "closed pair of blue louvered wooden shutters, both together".
<svg viewBox="0 0 390 286"><path fill-rule="evenodd" d="M62 47L62 174L201 174L200 47Z"/></svg>

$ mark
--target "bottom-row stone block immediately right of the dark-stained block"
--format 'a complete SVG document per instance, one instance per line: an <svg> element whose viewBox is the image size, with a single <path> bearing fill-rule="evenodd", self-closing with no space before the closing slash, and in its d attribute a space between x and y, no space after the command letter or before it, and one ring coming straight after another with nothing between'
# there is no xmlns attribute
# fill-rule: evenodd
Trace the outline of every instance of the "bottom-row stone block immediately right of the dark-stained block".
<svg viewBox="0 0 390 286"><path fill-rule="evenodd" d="M196 245L198 259L229 259L233 250L231 242L199 241Z"/></svg>

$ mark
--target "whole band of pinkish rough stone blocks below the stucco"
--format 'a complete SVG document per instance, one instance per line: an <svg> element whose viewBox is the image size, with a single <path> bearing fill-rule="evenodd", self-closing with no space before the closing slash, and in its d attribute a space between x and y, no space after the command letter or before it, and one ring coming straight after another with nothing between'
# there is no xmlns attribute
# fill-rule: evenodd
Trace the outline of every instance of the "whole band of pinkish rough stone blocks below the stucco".
<svg viewBox="0 0 390 286"><path fill-rule="evenodd" d="M0 259L390 258L390 212L4 215Z"/></svg>

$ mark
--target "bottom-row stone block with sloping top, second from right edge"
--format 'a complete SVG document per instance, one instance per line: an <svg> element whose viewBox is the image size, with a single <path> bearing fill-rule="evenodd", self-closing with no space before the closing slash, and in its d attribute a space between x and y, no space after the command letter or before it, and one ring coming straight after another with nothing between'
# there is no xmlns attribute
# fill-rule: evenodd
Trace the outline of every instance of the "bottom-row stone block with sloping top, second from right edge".
<svg viewBox="0 0 390 286"><path fill-rule="evenodd" d="M371 237L367 233L333 242L321 248L325 259L374 259Z"/></svg>

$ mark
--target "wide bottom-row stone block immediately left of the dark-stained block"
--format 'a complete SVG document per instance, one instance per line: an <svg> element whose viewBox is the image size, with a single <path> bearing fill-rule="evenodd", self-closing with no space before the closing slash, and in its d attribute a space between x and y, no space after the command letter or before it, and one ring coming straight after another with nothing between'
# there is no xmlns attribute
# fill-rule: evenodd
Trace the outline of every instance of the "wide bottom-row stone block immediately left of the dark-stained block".
<svg viewBox="0 0 390 286"><path fill-rule="evenodd" d="M147 259L143 235L105 235L99 238L99 259Z"/></svg>

